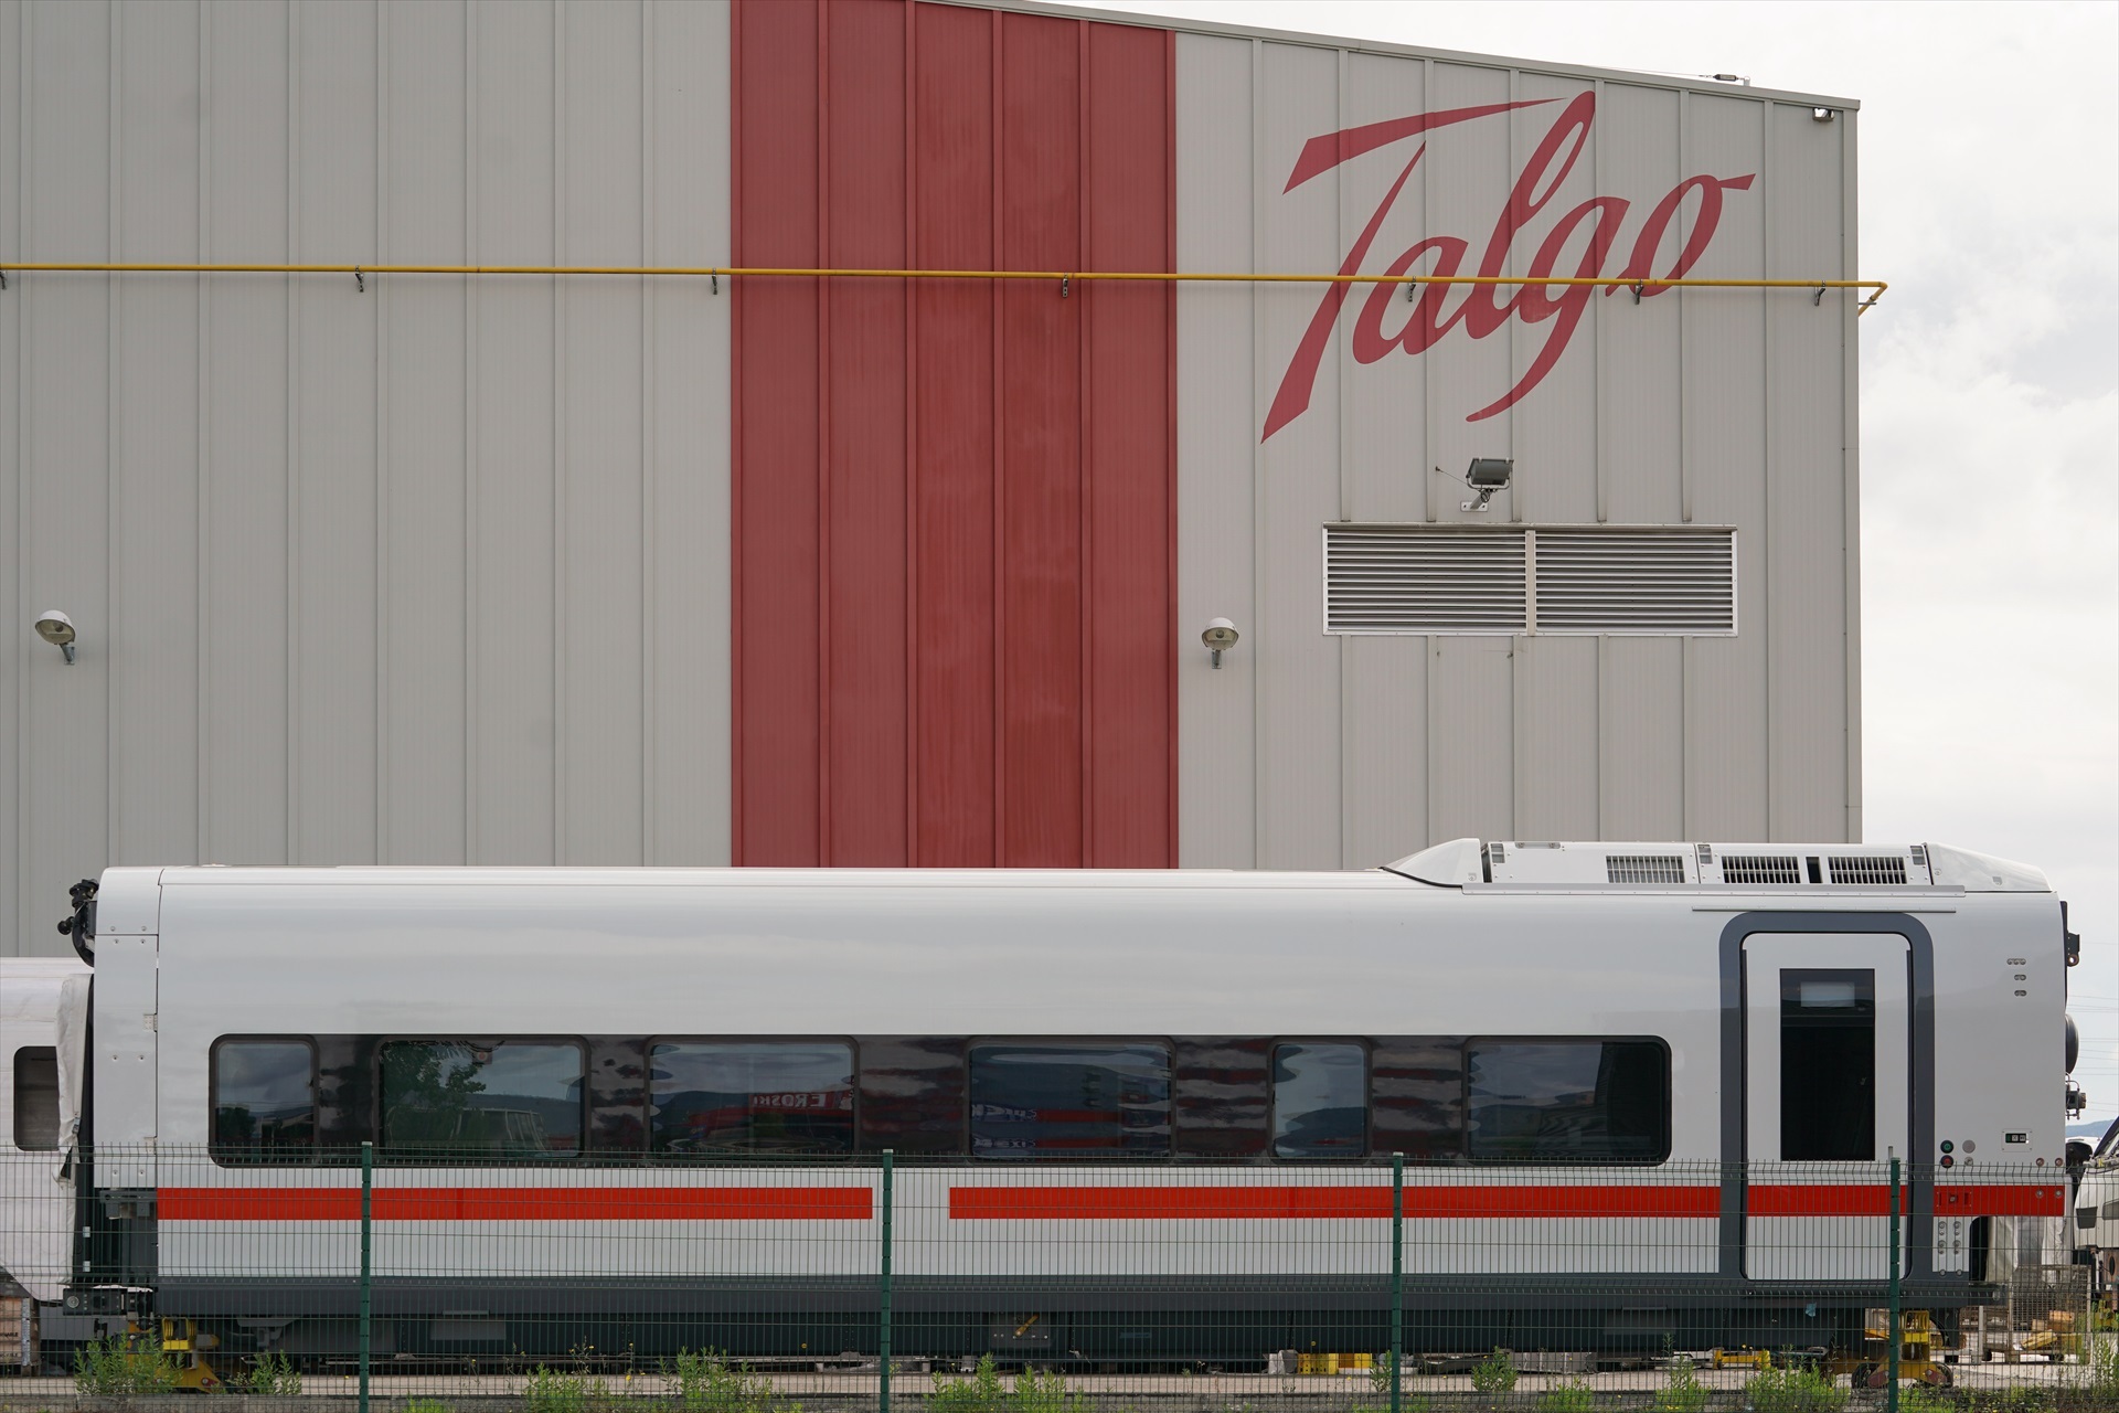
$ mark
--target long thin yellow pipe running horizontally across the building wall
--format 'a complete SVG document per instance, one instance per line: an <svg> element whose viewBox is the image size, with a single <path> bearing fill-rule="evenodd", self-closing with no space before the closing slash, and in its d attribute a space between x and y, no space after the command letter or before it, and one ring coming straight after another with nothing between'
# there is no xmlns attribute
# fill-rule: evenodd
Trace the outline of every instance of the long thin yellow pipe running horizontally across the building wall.
<svg viewBox="0 0 2119 1413"><path fill-rule="evenodd" d="M1161 269L803 269L776 265L180 265L117 261L0 261L0 273L51 275L634 275L634 278L793 278L793 280L1161 280L1235 284L1536 284L1596 286L1615 290L1875 290L1860 303L1867 311L1884 290L1884 280L1632 280L1623 275L1284 275L1242 271Z"/></svg>

